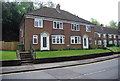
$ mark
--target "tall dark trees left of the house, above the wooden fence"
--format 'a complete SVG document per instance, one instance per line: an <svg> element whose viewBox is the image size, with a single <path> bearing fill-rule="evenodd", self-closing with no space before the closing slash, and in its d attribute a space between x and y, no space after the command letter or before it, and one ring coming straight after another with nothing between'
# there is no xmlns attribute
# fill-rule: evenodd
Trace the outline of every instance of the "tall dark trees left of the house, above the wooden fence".
<svg viewBox="0 0 120 81"><path fill-rule="evenodd" d="M2 40L18 41L22 15L33 10L32 2L2 3Z"/></svg>

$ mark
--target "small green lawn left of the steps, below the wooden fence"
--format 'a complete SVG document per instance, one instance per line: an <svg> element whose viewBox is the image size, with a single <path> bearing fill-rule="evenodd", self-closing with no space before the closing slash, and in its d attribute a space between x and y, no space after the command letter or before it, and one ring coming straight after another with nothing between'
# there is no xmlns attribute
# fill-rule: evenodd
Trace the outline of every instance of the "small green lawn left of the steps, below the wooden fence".
<svg viewBox="0 0 120 81"><path fill-rule="evenodd" d="M16 51L0 51L0 60L16 60Z"/></svg>

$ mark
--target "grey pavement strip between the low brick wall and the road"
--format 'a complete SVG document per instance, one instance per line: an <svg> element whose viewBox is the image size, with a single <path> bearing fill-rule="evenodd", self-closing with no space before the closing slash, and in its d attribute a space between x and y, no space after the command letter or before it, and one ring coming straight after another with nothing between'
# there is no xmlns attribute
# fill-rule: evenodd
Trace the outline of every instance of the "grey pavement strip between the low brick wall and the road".
<svg viewBox="0 0 120 81"><path fill-rule="evenodd" d="M8 66L8 67L2 67L1 68L2 72L0 73L8 74L8 73L27 72L27 71L45 70L45 69L61 68L61 67L67 67L67 66L90 64L90 63L117 58L119 56L120 56L119 54L115 54L115 55L85 59L85 60L43 63L43 64L24 64L21 66Z"/></svg>

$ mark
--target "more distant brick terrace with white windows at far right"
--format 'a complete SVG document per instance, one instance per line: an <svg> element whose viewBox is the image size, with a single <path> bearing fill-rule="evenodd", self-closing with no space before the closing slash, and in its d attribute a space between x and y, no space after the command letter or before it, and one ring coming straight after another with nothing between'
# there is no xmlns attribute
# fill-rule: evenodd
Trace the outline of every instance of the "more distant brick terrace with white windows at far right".
<svg viewBox="0 0 120 81"><path fill-rule="evenodd" d="M107 47L109 45L120 45L120 35L117 29L103 26L95 26L95 41L97 47Z"/></svg>

